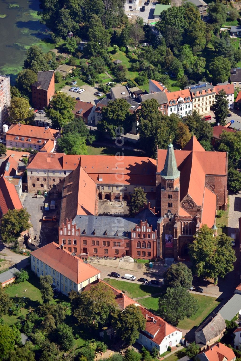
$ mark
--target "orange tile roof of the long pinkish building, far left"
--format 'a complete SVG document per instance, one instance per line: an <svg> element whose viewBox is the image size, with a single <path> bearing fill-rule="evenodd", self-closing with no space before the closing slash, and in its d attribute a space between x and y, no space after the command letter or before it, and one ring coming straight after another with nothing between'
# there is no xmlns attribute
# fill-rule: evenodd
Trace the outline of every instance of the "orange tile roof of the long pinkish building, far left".
<svg viewBox="0 0 241 361"><path fill-rule="evenodd" d="M6 139L10 139L10 137L25 137L25 138L36 138L36 139L52 139L54 140L56 136L59 134L59 131L56 129L45 129L44 127L35 127L33 125L25 125L25 124L12 124L9 130L6 133ZM8 138L9 137L9 138ZM26 140L26 139L25 139ZM21 140L20 140L21 142Z"/></svg>

